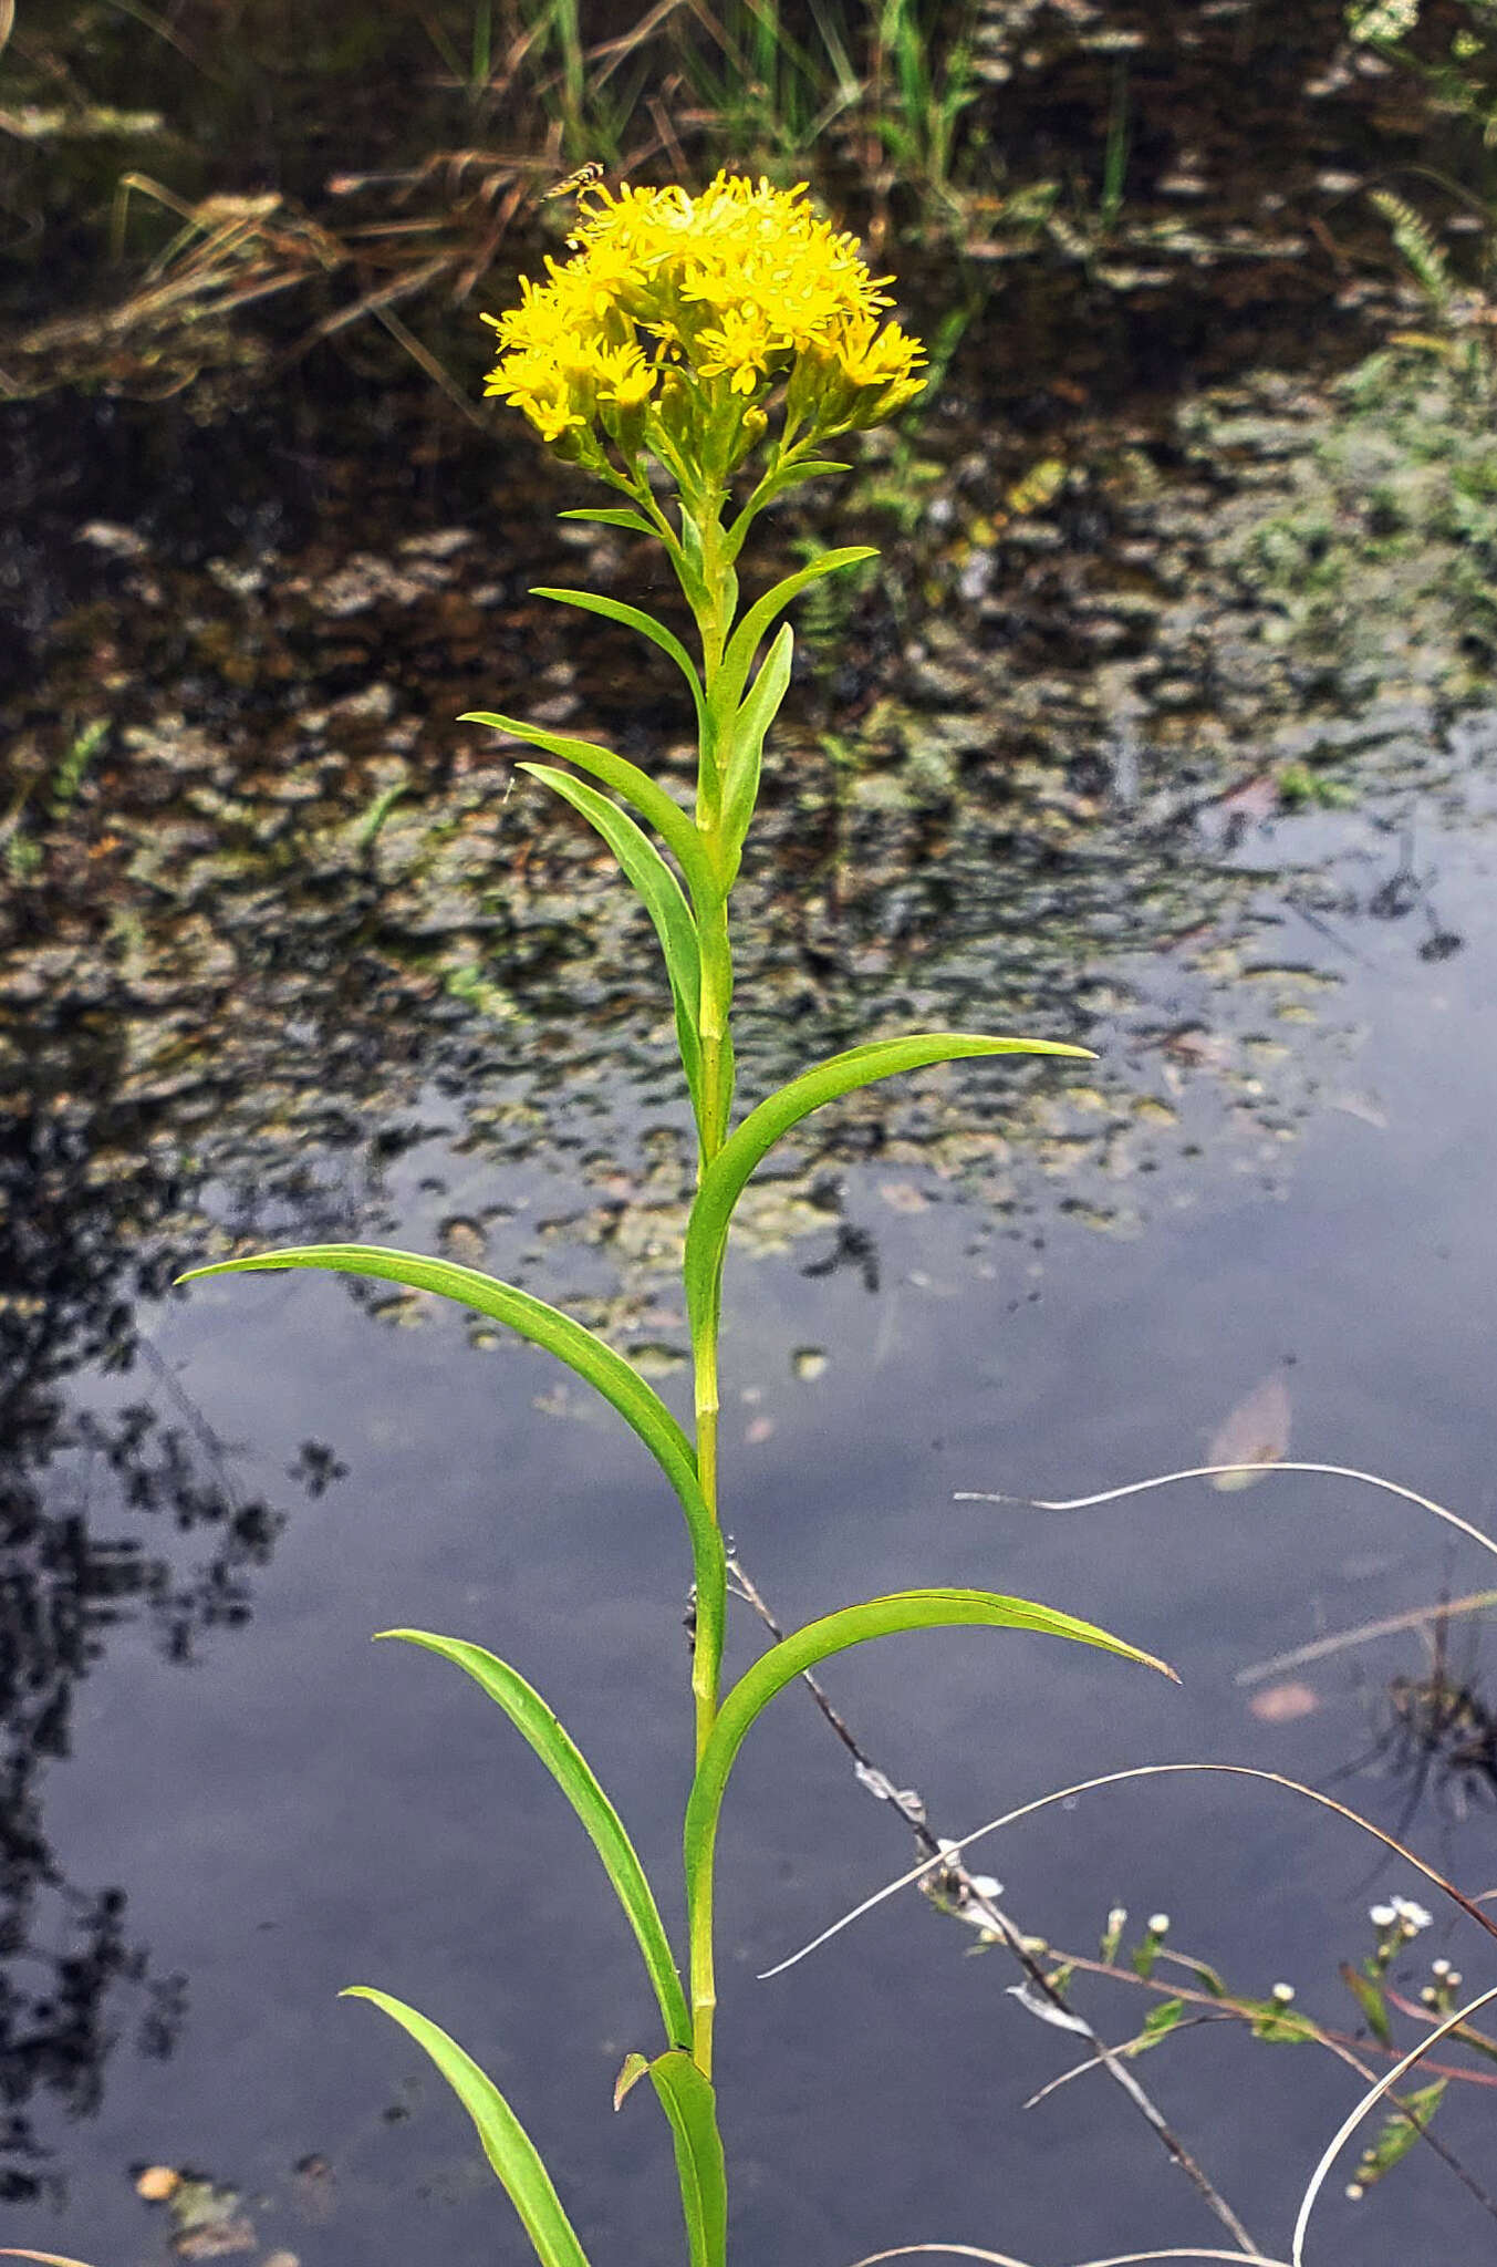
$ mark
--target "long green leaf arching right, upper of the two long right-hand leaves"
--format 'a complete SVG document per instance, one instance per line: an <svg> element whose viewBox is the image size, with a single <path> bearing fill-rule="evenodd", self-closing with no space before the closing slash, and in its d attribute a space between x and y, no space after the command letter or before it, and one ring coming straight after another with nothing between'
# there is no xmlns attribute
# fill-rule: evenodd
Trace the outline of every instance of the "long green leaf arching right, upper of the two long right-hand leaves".
<svg viewBox="0 0 1497 2267"><path fill-rule="evenodd" d="M822 1102L852 1095L899 1070L924 1070L929 1063L953 1063L983 1054L1062 1054L1089 1059L1089 1047L1067 1047L1053 1038L985 1038L976 1031L915 1031L908 1038L874 1038L865 1047L833 1054L813 1070L802 1070L777 1093L747 1113L722 1143L707 1168L691 1206L686 1229L686 1299L693 1328L700 1331L718 1310L722 1254L734 1206L756 1165L793 1124L818 1111Z"/></svg>

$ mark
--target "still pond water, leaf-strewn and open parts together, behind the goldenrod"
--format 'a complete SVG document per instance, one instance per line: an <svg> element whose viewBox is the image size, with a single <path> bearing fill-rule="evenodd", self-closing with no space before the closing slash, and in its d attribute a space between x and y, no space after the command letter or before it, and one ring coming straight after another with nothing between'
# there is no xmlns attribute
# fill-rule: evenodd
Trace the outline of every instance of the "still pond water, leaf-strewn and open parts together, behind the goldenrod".
<svg viewBox="0 0 1497 2267"><path fill-rule="evenodd" d="M1277 288L1223 306L1246 333ZM1282 564L1295 512L1329 496L1345 526L1336 481L1370 462L1325 435L1377 456L1449 397L1420 376L1348 406L1212 331L1175 372L1191 399L1162 406L1157 342L1126 399L1105 351L1076 349L1076 408L1037 374L985 385L974 331L915 462L876 458L822 526L892 526L892 564L806 639L745 882L745 1093L874 1025L1033 1029L1098 1061L924 1075L761 1177L727 1285L727 1517L786 1623L972 1582L1173 1662L1180 1687L974 1632L838 1659L836 1705L938 1832L1139 1761L1241 1761L1406 1816L1477 1893L1490 1773L1418 1777L1400 1737L1418 1630L1246 1680L1488 1587L1472 1544L1291 1474L1073 1514L958 1501L1194 1464L1275 1381L1291 1455L1497 1521L1497 719L1425 553L1352 553L1334 603L1316 585L1311 657ZM593 848L446 721L503 698L679 769L668 687L602 637L578 660L525 598L639 594L639 560L559 537L559 481L519 442L496 481L410 394L358 406L349 458L292 397L233 456L170 415L93 415L70 485L63 424L27 428L45 528L11 558L43 669L14 719L39 864L11 866L0 968L5 2238L159 2260L165 2217L131 2188L156 2163L238 2190L258 2260L519 2258L442 2086L335 1999L369 1981L485 2061L598 2260L673 2258L664 2126L639 2095L609 2106L652 2011L591 1852L462 1680L367 1641L405 1623L512 1659L670 1882L686 1553L648 1458L541 1356L421 1297L168 1288L276 1238L444 1249L571 1304L684 1406L686 1120L648 936ZM174 494L154 517L143 462ZM77 812L45 805L97 716ZM734 1659L754 1644L738 1607ZM1483 1648L1452 1625L1477 1691ZM913 1893L756 1981L908 1854L786 1693L722 1843L743 2267L1221 2240L1103 2074L1024 2108L1085 2049ZM1166 1909L1234 1990L1289 1981L1345 2033L1336 1965L1377 1897L1436 1911L1397 1968L1413 1997L1431 1956L1472 1988L1490 1968L1411 1868L1241 1780L1101 1791L974 1863L1069 1952L1114 1902L1135 1929ZM1078 1999L1117 2040L1150 2004ZM1357 2079L1239 2024L1137 2068L1282 2253ZM1492 2185L1479 2086L1436 2131ZM1311 2258L1495 2253L1434 2151L1363 2204L1348 2176Z"/></svg>

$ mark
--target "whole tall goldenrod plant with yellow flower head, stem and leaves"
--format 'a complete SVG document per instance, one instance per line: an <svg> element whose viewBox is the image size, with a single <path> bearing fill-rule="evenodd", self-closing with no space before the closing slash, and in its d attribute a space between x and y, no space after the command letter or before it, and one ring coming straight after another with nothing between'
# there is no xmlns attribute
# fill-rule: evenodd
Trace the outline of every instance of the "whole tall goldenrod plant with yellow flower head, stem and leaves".
<svg viewBox="0 0 1497 2267"><path fill-rule="evenodd" d="M659 1464L686 1519L695 1585L684 1970L618 1811L521 1671L473 1641L428 1630L383 1635L442 1655L498 1703L548 1766L602 1859L639 1943L664 2033L652 2054L630 2056L618 2095L645 2074L659 2095L675 2138L693 2267L722 2267L727 2256L727 2179L713 2095L713 1850L734 1757L759 1712L804 1669L847 1646L951 1623L1042 1630L1162 1669L1105 1630L1024 1598L915 1589L847 1605L795 1630L722 1691L718 1324L729 1226L750 1174L811 1111L895 1072L958 1056L1085 1054L1055 1041L972 1031L874 1038L815 1063L745 1115L734 1113L729 909L765 735L790 682L793 635L781 614L820 576L872 553L865 546L822 551L747 608L738 601L738 560L765 506L840 469L822 453L827 442L881 424L922 390L922 347L888 320L886 283L867 272L854 238L818 218L804 190L720 175L695 197L684 188L587 188L571 256L548 261L546 279L525 283L521 304L496 320L501 351L489 394L521 408L555 456L625 499L564 517L655 537L695 623L695 651L688 651L666 623L621 598L544 592L630 626L677 664L698 721L693 812L611 748L519 716L482 712L467 719L553 759L521 769L598 830L659 936L698 1134L698 1188L682 1260L693 1428L686 1430L639 1369L593 1331L476 1267L374 1245L313 1245L195 1270L204 1276L331 1267L439 1292L566 1362ZM582 2267L584 2251L562 2199L494 2081L428 2015L383 1990L358 1988L356 1997L374 1999L403 2024L448 2079L546 2267Z"/></svg>

